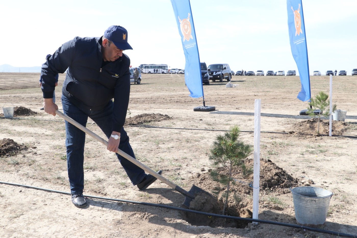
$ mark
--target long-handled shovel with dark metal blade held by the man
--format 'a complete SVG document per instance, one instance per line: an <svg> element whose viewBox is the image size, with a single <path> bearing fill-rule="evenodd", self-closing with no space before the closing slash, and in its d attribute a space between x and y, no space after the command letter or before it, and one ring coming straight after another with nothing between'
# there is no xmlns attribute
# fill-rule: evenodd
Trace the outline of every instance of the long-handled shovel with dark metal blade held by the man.
<svg viewBox="0 0 357 238"><path fill-rule="evenodd" d="M86 127L82 126L81 124L79 124L78 122L76 122L75 120L70 118L69 116L61 113L59 110L56 110L56 115L60 116L62 119L65 119L67 122L73 124L75 127L79 128L86 134L90 135L91 137L93 137L94 139L99 141L100 143L102 143L106 146L108 145L108 142L106 140L104 140L103 138L101 138L99 135L95 134L91 130L87 129ZM191 201L193 199L195 199L195 195L197 195L197 194L203 193L203 194L206 194L213 198L213 196L210 193L206 192L205 190L203 190L201 188L198 188L196 185L192 185L191 189L187 192L186 190L184 190L181 187L177 186L176 184L172 183L170 180L164 178L162 175L156 173L154 170L150 169L145 164L140 163L138 160L134 159L129 154L123 152L120 149L118 149L117 154L126 158L127 160L129 160L131 163L137 165L138 167L144 169L147 173L149 173L152 176L154 176L155 178L159 179L161 182L169 185L171 188L175 189L177 192L185 195L185 201L183 202L183 205L185 205L187 208L190 207Z"/></svg>

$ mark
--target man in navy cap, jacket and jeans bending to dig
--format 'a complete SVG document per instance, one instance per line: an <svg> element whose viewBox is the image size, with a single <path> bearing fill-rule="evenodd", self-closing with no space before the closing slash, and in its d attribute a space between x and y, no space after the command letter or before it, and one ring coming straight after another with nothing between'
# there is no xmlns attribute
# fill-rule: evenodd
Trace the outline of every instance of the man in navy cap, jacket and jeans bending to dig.
<svg viewBox="0 0 357 238"><path fill-rule="evenodd" d="M127 41L128 33L122 26L110 26L101 37L76 37L67 41L42 65L41 89L45 112L55 116L58 109L52 101L55 77L67 70L62 88L64 114L84 127L90 117L108 137L110 152L117 152L119 148L135 158L123 128L130 94L130 59L123 54L123 50L132 50ZM72 203L76 207L85 207L85 133L67 121L65 125ZM117 157L132 184L140 190L156 180L121 155L117 154ZM161 174L161 170L158 173Z"/></svg>

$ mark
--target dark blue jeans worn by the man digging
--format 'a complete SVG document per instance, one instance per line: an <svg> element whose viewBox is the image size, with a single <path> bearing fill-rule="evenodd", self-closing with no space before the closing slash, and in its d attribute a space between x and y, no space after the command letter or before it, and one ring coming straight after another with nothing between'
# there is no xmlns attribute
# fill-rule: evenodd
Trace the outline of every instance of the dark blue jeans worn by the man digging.
<svg viewBox="0 0 357 238"><path fill-rule="evenodd" d="M104 132L107 138L112 133L112 118L113 118L113 102L110 101L104 109L100 111L92 111L79 109L72 104L64 95L62 95L63 113L84 127L86 126L88 117L90 117ZM69 122L66 124L66 148L67 148L67 170L68 178L71 186L71 194L83 193L84 188L84 143L85 133ZM134 152L129 144L129 137L124 128L120 132L120 150L135 158ZM103 149L105 145L103 145ZM133 185L136 185L147 176L143 169L131 163L119 154L116 154L124 168L126 174Z"/></svg>

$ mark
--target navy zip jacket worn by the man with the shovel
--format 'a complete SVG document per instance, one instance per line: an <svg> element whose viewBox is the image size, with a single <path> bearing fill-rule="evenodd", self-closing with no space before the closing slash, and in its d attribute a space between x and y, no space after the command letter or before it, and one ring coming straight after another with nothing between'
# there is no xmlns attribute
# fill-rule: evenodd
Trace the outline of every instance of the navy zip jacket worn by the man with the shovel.
<svg viewBox="0 0 357 238"><path fill-rule="evenodd" d="M64 43L42 65L41 89L44 98L52 98L56 74L67 70L62 94L78 108L94 111L114 98L113 131L121 132L129 104L130 59L123 54L103 64L101 41L101 37L76 37Z"/></svg>

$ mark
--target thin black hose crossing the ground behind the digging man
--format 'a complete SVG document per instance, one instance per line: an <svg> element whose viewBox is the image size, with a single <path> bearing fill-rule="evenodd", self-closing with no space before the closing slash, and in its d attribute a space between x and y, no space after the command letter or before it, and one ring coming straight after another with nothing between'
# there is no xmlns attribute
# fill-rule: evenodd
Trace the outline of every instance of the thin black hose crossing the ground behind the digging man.
<svg viewBox="0 0 357 238"><path fill-rule="evenodd" d="M5 118L3 116L0 116L0 118ZM15 118L11 117L10 119L23 119L23 120L40 120L40 121L50 121L50 122L64 122L63 121L57 121L57 120L45 120L45 119L35 119L35 118ZM94 124L94 123L89 123L87 124ZM182 127L154 127L154 126L147 126L147 125L128 125L129 127L145 127L145 128L159 128L159 129L180 129L180 130L208 130L208 131L216 131L216 132L230 132L230 130L217 130L217 129L197 129L197 128L182 128ZM247 133L254 133L252 130L241 130L241 132L247 132ZM260 132L260 133L271 133L271 134L290 134L288 132ZM303 134L303 133L297 133L299 135L313 135L313 134ZM319 134L319 136L330 136L327 134ZM332 137L346 137L346 138L357 138L357 136L353 135L331 135Z"/></svg>

